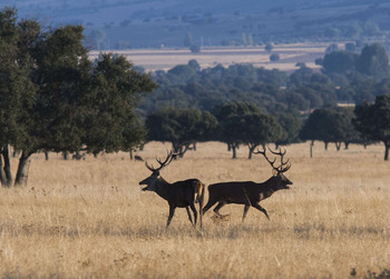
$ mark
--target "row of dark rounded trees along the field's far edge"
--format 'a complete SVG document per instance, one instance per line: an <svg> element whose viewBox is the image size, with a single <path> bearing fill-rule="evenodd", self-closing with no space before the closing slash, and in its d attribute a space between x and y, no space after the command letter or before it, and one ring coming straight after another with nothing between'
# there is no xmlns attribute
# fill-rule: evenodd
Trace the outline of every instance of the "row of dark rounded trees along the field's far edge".
<svg viewBox="0 0 390 279"><path fill-rule="evenodd" d="M240 146L253 151L267 143L290 145L309 140L311 153L314 141L323 141L325 149L334 143L368 146L382 141L384 160L389 158L390 96L377 98L374 104L363 103L357 108L326 107L314 110L303 122L299 114L283 112L264 113L251 103L225 103L213 113L199 109L165 108L150 113L146 119L148 140L170 142L176 152L185 152L196 142L225 142L236 158Z"/></svg>

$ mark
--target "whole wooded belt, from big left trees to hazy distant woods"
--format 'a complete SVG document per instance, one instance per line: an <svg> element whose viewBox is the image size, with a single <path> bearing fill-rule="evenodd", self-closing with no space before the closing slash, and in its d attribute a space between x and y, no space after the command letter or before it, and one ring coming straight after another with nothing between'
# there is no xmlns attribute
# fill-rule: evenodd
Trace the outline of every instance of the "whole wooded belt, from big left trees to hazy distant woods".
<svg viewBox="0 0 390 279"><path fill-rule="evenodd" d="M43 31L33 19L18 21L16 9L1 14L3 186L23 182L36 152L97 156L153 140L172 142L177 152L218 140L233 158L241 145L251 158L271 142L321 140L338 149L382 142L389 158L390 70L379 43L330 47L322 72L305 64L290 76L251 64L199 69L191 60L145 73L117 54L90 61L81 26ZM21 151L14 182L9 146Z"/></svg>

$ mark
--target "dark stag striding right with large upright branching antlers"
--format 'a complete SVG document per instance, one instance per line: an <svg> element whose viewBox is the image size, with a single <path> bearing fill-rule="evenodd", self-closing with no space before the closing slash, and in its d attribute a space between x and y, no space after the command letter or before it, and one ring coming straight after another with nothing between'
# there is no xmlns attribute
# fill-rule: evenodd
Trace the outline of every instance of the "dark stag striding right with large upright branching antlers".
<svg viewBox="0 0 390 279"><path fill-rule="evenodd" d="M280 156L281 158L281 165L275 167L274 163L276 161L276 158L274 160L270 160L267 156L265 155L266 150L260 151L257 149L255 155L263 155L264 158L267 160L267 162L271 165L273 169L273 176L262 182L256 183L253 181L232 181L232 182L221 182L221 183L214 183L208 186L208 202L203 208L203 213L206 213L209 208L212 208L216 202L218 205L214 208L214 212L218 217L223 217L218 211L220 209L228 203L236 203L236 205L244 205L244 213L242 221L244 221L246 213L250 209L250 207L254 207L255 209L262 211L266 218L270 220L270 216L266 212L266 210L259 205L261 200L264 200L266 198L270 198L275 191L282 190L282 189L290 189L289 185L292 185L292 182L283 175L285 171L287 171L291 167L291 165L287 161L283 161L283 157L286 152L282 152L281 149L279 151L272 151L270 148L269 150L275 155Z"/></svg>

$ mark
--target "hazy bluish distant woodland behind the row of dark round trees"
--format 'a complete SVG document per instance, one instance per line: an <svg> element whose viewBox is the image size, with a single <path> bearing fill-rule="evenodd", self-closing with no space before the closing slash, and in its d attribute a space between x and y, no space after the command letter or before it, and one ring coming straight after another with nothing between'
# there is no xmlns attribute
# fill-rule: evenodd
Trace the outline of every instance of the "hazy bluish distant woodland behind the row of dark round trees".
<svg viewBox="0 0 390 279"><path fill-rule="evenodd" d="M143 116L164 107L211 111L225 102L242 101L271 114L289 110L308 113L338 102L373 102L387 92L389 59L380 44L364 46L360 53L334 50L321 59L321 72L300 63L290 76L250 63L201 69L196 60L191 60L168 71L156 71L153 79L158 89L143 100L139 111Z"/></svg>

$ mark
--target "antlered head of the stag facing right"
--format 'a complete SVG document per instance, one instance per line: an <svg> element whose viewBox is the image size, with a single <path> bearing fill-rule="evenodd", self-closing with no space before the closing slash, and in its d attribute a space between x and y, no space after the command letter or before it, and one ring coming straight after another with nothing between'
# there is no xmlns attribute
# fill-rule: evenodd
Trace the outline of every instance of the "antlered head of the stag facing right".
<svg viewBox="0 0 390 279"><path fill-rule="evenodd" d="M272 172L273 172L273 177L271 178L271 181L272 181L272 186L273 186L274 190L290 189L289 185L292 185L293 182L284 176L284 172L286 172L291 168L291 163L289 162L290 160L287 160L285 162L283 161L283 157L284 157L286 150L284 149L284 151L282 151L281 148L279 149L277 152L272 151L270 148L269 148L269 150L271 153L273 153L275 156L280 156L280 158L281 158L280 166L275 167L276 158L273 160L269 159L269 157L265 153L266 152L265 148L263 149L263 151L260 151L257 149L257 151L254 153L255 155L263 155L264 158L266 159L266 161L271 165Z"/></svg>

